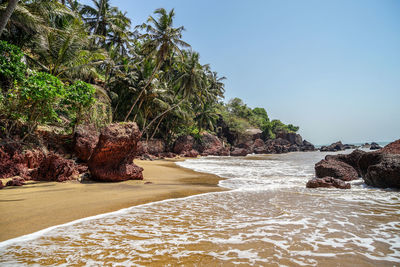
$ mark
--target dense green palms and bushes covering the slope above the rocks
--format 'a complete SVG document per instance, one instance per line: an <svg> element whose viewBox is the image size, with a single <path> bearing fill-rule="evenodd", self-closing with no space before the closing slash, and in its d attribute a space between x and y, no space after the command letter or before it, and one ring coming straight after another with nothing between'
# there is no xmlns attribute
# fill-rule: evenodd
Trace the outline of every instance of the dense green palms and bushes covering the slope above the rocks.
<svg viewBox="0 0 400 267"><path fill-rule="evenodd" d="M1 136L111 121L135 121L143 138L166 141L221 127L256 127L267 138L298 130L239 98L225 104L225 77L201 63L174 19L160 8L134 26L110 0L0 0Z"/></svg>

